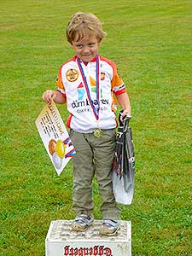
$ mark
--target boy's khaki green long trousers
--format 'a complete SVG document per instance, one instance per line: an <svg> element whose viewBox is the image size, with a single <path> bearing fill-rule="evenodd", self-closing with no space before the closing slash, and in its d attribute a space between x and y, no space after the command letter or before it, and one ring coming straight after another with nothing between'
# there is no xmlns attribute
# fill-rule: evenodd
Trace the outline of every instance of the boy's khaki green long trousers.
<svg viewBox="0 0 192 256"><path fill-rule="evenodd" d="M73 210L93 216L92 179L96 176L102 195L102 218L119 219L112 185L112 164L115 150L115 132L103 130L96 138L93 133L70 131L76 155L73 157Z"/></svg>

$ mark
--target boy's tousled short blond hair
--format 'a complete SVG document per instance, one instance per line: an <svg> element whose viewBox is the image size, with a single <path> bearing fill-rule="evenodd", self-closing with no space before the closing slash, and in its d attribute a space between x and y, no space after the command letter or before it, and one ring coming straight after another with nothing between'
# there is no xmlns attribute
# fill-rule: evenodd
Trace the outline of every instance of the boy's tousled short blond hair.
<svg viewBox="0 0 192 256"><path fill-rule="evenodd" d="M89 36L95 35L98 42L106 35L102 30L102 23L93 14L76 13L68 22L67 41L72 44L73 41L79 41Z"/></svg>

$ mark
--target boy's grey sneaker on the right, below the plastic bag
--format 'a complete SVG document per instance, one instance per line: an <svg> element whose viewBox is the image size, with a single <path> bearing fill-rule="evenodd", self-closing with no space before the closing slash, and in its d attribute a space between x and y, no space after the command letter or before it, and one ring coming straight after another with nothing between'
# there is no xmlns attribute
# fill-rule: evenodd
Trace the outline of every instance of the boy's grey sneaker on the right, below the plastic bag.
<svg viewBox="0 0 192 256"><path fill-rule="evenodd" d="M114 236L120 229L120 222L113 219L104 219L102 221L102 227L99 231L101 236Z"/></svg>

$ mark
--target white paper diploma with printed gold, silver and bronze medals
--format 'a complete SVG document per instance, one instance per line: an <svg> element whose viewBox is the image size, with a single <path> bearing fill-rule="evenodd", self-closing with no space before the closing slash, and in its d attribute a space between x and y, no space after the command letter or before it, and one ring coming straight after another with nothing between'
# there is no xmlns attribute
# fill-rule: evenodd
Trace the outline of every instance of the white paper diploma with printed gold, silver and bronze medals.
<svg viewBox="0 0 192 256"><path fill-rule="evenodd" d="M75 149L55 102L52 101L43 108L35 124L55 171L60 175L74 156Z"/></svg>

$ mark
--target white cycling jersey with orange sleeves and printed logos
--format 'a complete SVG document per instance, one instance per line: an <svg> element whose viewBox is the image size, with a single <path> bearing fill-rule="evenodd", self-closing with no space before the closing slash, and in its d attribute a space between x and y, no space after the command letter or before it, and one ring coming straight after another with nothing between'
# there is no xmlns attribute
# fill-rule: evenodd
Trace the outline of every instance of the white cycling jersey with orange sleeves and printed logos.
<svg viewBox="0 0 192 256"><path fill-rule="evenodd" d="M64 63L56 83L57 90L67 99L70 113L67 127L84 133L93 132L96 128L115 128L115 95L125 93L125 84L116 65L101 55L88 63L80 61L79 64L79 61L75 55Z"/></svg>

